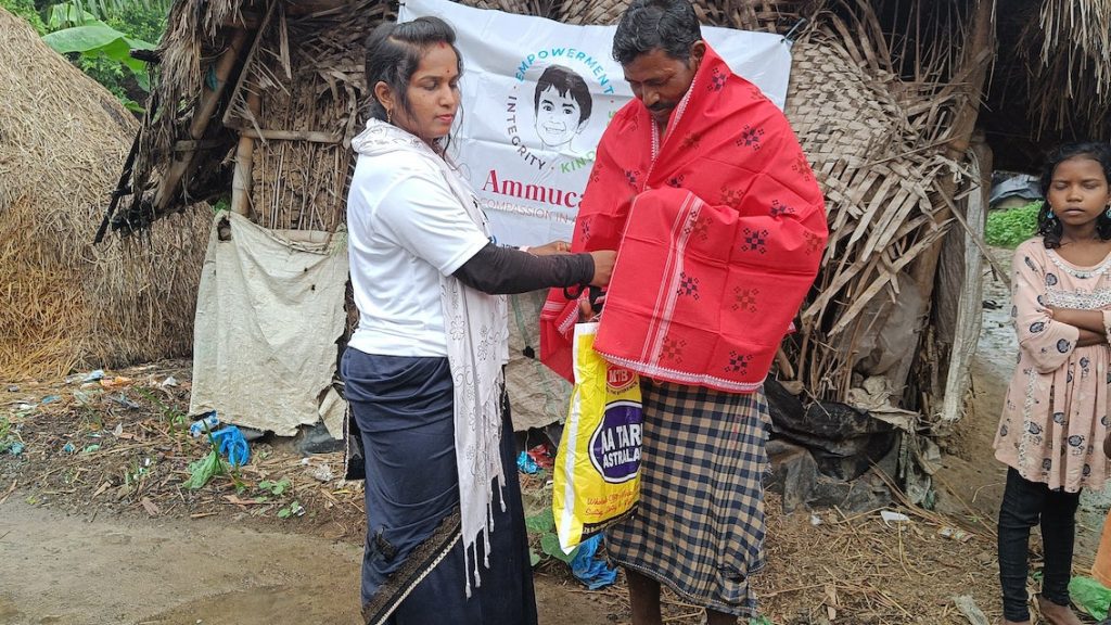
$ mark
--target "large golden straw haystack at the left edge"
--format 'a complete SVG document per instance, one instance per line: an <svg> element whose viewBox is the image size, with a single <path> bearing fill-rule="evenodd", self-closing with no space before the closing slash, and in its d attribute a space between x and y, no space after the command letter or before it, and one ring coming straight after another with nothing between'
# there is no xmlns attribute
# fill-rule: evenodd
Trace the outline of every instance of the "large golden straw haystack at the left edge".
<svg viewBox="0 0 1111 625"><path fill-rule="evenodd" d="M139 123L0 9L0 379L187 355L209 218L92 241Z"/></svg>

